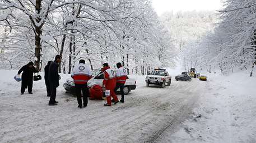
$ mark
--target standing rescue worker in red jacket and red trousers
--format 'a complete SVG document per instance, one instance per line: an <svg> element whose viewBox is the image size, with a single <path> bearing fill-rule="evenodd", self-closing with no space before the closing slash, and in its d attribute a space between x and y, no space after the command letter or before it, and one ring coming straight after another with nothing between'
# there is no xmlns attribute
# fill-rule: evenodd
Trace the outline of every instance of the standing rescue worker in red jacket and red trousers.
<svg viewBox="0 0 256 143"><path fill-rule="evenodd" d="M112 70L108 63L103 64L103 72L104 72L104 80L103 80L103 86L105 86L105 95L106 95L106 101L107 103L104 104L104 106L111 106L111 97L114 99L114 103L118 103L117 95L115 94L115 72Z"/></svg>

